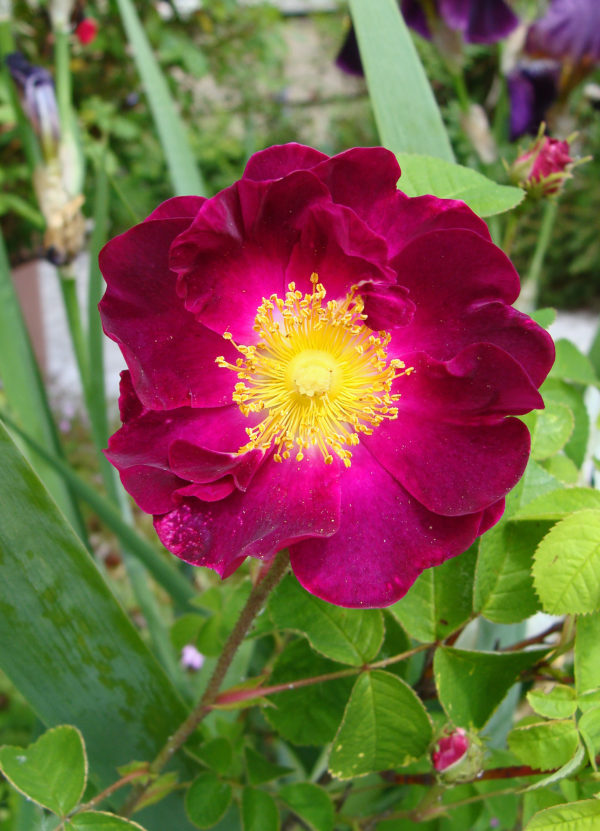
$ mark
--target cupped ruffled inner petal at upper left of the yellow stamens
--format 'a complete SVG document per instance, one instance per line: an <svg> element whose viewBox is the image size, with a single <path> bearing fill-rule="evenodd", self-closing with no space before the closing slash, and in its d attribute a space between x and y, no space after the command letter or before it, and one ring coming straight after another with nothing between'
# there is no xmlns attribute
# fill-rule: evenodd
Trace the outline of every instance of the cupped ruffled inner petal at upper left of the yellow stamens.
<svg viewBox="0 0 600 831"><path fill-rule="evenodd" d="M329 201L327 190L299 171L274 182L242 179L205 202L171 248L188 311L220 335L254 340L256 311L263 297L285 292L299 228L317 201Z"/></svg>

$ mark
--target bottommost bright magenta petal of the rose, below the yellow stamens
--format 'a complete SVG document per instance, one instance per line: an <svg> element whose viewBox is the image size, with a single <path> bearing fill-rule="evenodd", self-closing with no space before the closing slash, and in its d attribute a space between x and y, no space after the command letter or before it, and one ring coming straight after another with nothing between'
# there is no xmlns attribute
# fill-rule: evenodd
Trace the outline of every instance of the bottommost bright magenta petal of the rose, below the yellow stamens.
<svg viewBox="0 0 600 831"><path fill-rule="evenodd" d="M440 517L427 511L359 446L341 479L336 534L290 547L305 589L348 607L389 606L419 574L465 551L481 514Z"/></svg>

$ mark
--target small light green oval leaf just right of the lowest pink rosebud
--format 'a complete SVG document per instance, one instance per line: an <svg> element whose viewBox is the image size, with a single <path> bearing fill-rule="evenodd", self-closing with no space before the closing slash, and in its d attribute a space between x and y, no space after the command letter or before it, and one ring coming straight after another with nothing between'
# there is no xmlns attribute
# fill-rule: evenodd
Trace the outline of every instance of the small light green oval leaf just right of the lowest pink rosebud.
<svg viewBox="0 0 600 831"><path fill-rule="evenodd" d="M565 765L579 747L572 719L517 725L508 734L507 741L519 761L539 770Z"/></svg>

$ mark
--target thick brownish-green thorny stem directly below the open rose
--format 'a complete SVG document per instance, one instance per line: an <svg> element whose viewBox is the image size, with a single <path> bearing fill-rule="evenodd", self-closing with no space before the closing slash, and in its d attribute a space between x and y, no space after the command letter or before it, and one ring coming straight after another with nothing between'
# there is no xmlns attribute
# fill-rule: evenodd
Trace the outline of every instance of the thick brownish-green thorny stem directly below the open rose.
<svg viewBox="0 0 600 831"><path fill-rule="evenodd" d="M233 627L231 634L223 647L223 651L221 652L213 674L206 685L202 698L186 720L178 727L175 733L173 733L172 736L169 736L166 744L150 765L150 773L160 773L171 757L185 744L196 727L198 727L200 722L211 711L212 704L217 697L219 688L223 683L223 679L227 674L227 670L231 666L231 662L233 661L239 646L252 626L254 619L262 610L268 595L283 578L285 572L287 571L288 564L289 554L287 550L280 551L270 565L267 573L264 574L262 579L259 579L250 592L246 605L242 609L238 621ZM138 788L133 791L121 810L121 814L123 816L130 816L130 814L133 813L137 803L144 795L147 787L148 786L146 785L143 788Z"/></svg>

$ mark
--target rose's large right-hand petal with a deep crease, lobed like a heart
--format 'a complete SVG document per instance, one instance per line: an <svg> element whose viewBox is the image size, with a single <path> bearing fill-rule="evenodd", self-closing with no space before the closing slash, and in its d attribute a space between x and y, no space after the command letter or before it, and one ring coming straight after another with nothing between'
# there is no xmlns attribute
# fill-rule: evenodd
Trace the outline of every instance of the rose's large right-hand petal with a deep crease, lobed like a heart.
<svg viewBox="0 0 600 831"><path fill-rule="evenodd" d="M527 374L490 344L448 363L409 359L396 381L398 418L363 441L378 462L426 508L461 516L488 508L519 481L529 432L507 414L543 407Z"/></svg>

